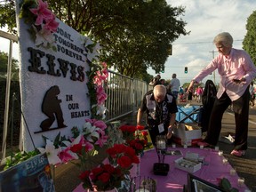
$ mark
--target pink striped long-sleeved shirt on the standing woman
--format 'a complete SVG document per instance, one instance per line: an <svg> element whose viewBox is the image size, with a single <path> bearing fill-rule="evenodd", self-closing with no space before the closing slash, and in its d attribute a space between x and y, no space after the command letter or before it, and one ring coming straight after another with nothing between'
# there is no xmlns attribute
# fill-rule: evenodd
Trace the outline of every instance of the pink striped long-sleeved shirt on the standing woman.
<svg viewBox="0 0 256 192"><path fill-rule="evenodd" d="M217 68L220 74L218 98L221 97L223 92L227 92L230 100L239 99L256 76L256 67L249 54L244 50L232 48L228 57L219 54L193 80L200 82ZM243 77L246 79L244 84L235 84L233 82L233 79L241 79Z"/></svg>

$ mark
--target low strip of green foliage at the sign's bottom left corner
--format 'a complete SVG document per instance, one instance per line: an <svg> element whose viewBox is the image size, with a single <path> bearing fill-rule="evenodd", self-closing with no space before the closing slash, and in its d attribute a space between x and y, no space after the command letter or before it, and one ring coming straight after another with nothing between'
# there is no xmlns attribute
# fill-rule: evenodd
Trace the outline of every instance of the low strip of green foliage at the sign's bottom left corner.
<svg viewBox="0 0 256 192"><path fill-rule="evenodd" d="M4 166L4 170L16 165L20 164L21 162L26 161L27 159L38 155L40 152L38 150L29 151L28 153L26 151L19 152L16 154L12 154L11 157L6 158L6 164Z"/></svg>

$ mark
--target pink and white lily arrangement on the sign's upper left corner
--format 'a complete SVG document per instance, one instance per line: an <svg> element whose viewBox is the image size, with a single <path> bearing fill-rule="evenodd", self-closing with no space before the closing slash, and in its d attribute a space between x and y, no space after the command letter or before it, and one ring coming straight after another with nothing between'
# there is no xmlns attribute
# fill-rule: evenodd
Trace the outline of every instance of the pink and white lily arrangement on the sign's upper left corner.
<svg viewBox="0 0 256 192"><path fill-rule="evenodd" d="M56 51L53 33L57 31L59 22L55 20L55 15L48 9L47 2L42 0L25 0L20 7L20 18L25 19L25 23L30 24L29 32L35 39L36 46L52 48Z"/></svg>

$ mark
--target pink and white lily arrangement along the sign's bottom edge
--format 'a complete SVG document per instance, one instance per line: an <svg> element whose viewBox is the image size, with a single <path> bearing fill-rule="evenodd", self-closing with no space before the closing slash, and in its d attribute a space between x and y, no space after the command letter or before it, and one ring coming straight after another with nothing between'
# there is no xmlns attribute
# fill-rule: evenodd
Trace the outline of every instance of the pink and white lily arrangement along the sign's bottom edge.
<svg viewBox="0 0 256 192"><path fill-rule="evenodd" d="M107 143L106 128L107 124L103 121L86 119L81 130L77 127L72 128L72 138L60 137L59 133L52 142L44 137L45 148L38 148L38 150L41 153L46 152L50 164L57 165L80 159L80 165L83 167L87 157Z"/></svg>

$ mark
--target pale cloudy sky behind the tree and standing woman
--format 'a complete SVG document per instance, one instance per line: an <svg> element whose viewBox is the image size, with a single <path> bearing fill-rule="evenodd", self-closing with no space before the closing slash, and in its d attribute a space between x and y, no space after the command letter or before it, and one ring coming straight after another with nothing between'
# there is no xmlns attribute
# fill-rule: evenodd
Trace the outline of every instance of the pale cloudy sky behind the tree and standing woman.
<svg viewBox="0 0 256 192"><path fill-rule="evenodd" d="M172 55L165 62L164 79L171 79L172 73L177 74L180 84L188 83L200 72L214 57L218 55L215 45L212 44L214 36L221 32L229 32L233 36L233 47L242 49L242 42L246 34L247 18L256 11L255 0L167 0L172 6L184 6L185 13L180 19L187 22L185 26L190 31L188 36L180 36L172 43ZM8 52L9 41L0 37L0 51ZM13 57L18 59L18 44L13 44ZM213 54L212 54L213 52ZM188 67L188 74L184 68ZM156 76L152 69L150 75ZM214 77L215 76L215 77ZM207 79L218 84L219 74L216 71Z"/></svg>

